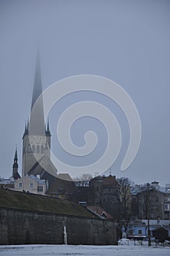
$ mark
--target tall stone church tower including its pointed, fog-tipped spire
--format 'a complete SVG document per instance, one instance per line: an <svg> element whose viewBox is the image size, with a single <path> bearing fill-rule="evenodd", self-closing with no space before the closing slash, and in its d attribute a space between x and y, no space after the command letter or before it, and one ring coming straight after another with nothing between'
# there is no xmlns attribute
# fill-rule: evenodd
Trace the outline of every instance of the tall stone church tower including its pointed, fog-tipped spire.
<svg viewBox="0 0 170 256"><path fill-rule="evenodd" d="M34 89L31 102L31 110L33 110L36 99L38 99L40 95L42 95L42 77L38 54L36 58L36 71L34 78ZM48 157L50 159L51 134L49 121L47 121L47 128L45 127L42 97L40 97L39 104L36 108L36 118L33 118L34 119L31 120L31 124L33 124L34 122L34 129L31 129L29 127L30 120L28 120L26 123L25 131L23 133L22 176L26 176L32 170L32 168L36 165L37 160L42 159L42 157ZM36 158L34 157L34 155L36 156Z"/></svg>

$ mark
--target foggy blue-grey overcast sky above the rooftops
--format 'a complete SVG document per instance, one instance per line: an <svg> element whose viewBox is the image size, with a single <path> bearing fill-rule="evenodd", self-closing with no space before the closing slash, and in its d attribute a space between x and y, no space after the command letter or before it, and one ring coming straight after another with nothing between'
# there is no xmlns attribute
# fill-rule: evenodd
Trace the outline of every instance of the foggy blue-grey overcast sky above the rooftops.
<svg viewBox="0 0 170 256"><path fill-rule="evenodd" d="M42 86L72 75L101 75L128 92L139 110L142 141L134 162L120 172L129 130L120 109L97 94L75 94L50 114L53 150L59 114L72 102L92 99L115 111L123 147L112 174L136 183L170 183L170 1L0 1L0 176L12 175L15 145L21 173L22 135L31 108L36 50L40 46ZM98 97L98 99L97 99ZM98 128L100 154L104 127L90 119L72 129L75 143L82 128ZM90 124L90 125L89 125ZM127 131L128 130L128 131ZM77 133L80 131L80 135ZM78 141L78 142L77 142ZM81 141L80 141L81 144ZM94 156L96 157L96 156ZM72 162L71 159L69 161Z"/></svg>

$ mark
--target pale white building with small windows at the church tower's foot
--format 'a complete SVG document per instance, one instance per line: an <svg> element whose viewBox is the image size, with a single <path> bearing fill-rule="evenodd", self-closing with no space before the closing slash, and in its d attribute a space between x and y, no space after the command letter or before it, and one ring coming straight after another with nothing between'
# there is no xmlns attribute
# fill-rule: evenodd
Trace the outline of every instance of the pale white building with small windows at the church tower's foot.
<svg viewBox="0 0 170 256"><path fill-rule="evenodd" d="M18 178L14 182L14 190L25 191L38 195L45 195L46 192L46 182L40 179L39 176L24 176L23 178Z"/></svg>

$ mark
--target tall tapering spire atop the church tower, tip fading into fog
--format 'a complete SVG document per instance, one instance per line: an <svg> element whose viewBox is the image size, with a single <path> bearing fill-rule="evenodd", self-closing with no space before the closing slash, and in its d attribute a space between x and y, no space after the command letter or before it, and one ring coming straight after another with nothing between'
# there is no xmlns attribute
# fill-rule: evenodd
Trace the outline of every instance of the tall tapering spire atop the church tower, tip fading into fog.
<svg viewBox="0 0 170 256"><path fill-rule="evenodd" d="M39 96L41 97L39 98ZM39 98L39 102L36 105L36 110L34 110L34 105L36 99ZM40 68L40 59L39 51L36 57L36 71L34 78L34 89L31 103L31 111L34 110L34 115L31 116L30 130L31 134L34 135L44 135L45 134L45 118L44 118L44 108L43 108L43 99L42 99L42 77L41 77L41 68ZM32 113L32 112L31 112Z"/></svg>

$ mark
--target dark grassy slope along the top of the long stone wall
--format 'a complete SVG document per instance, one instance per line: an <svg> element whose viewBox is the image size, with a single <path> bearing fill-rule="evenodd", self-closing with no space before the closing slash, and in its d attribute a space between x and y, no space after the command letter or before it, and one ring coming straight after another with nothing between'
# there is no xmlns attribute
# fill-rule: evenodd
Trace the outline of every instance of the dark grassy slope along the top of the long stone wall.
<svg viewBox="0 0 170 256"><path fill-rule="evenodd" d="M0 189L0 207L95 218L82 206L66 200L5 189Z"/></svg>

